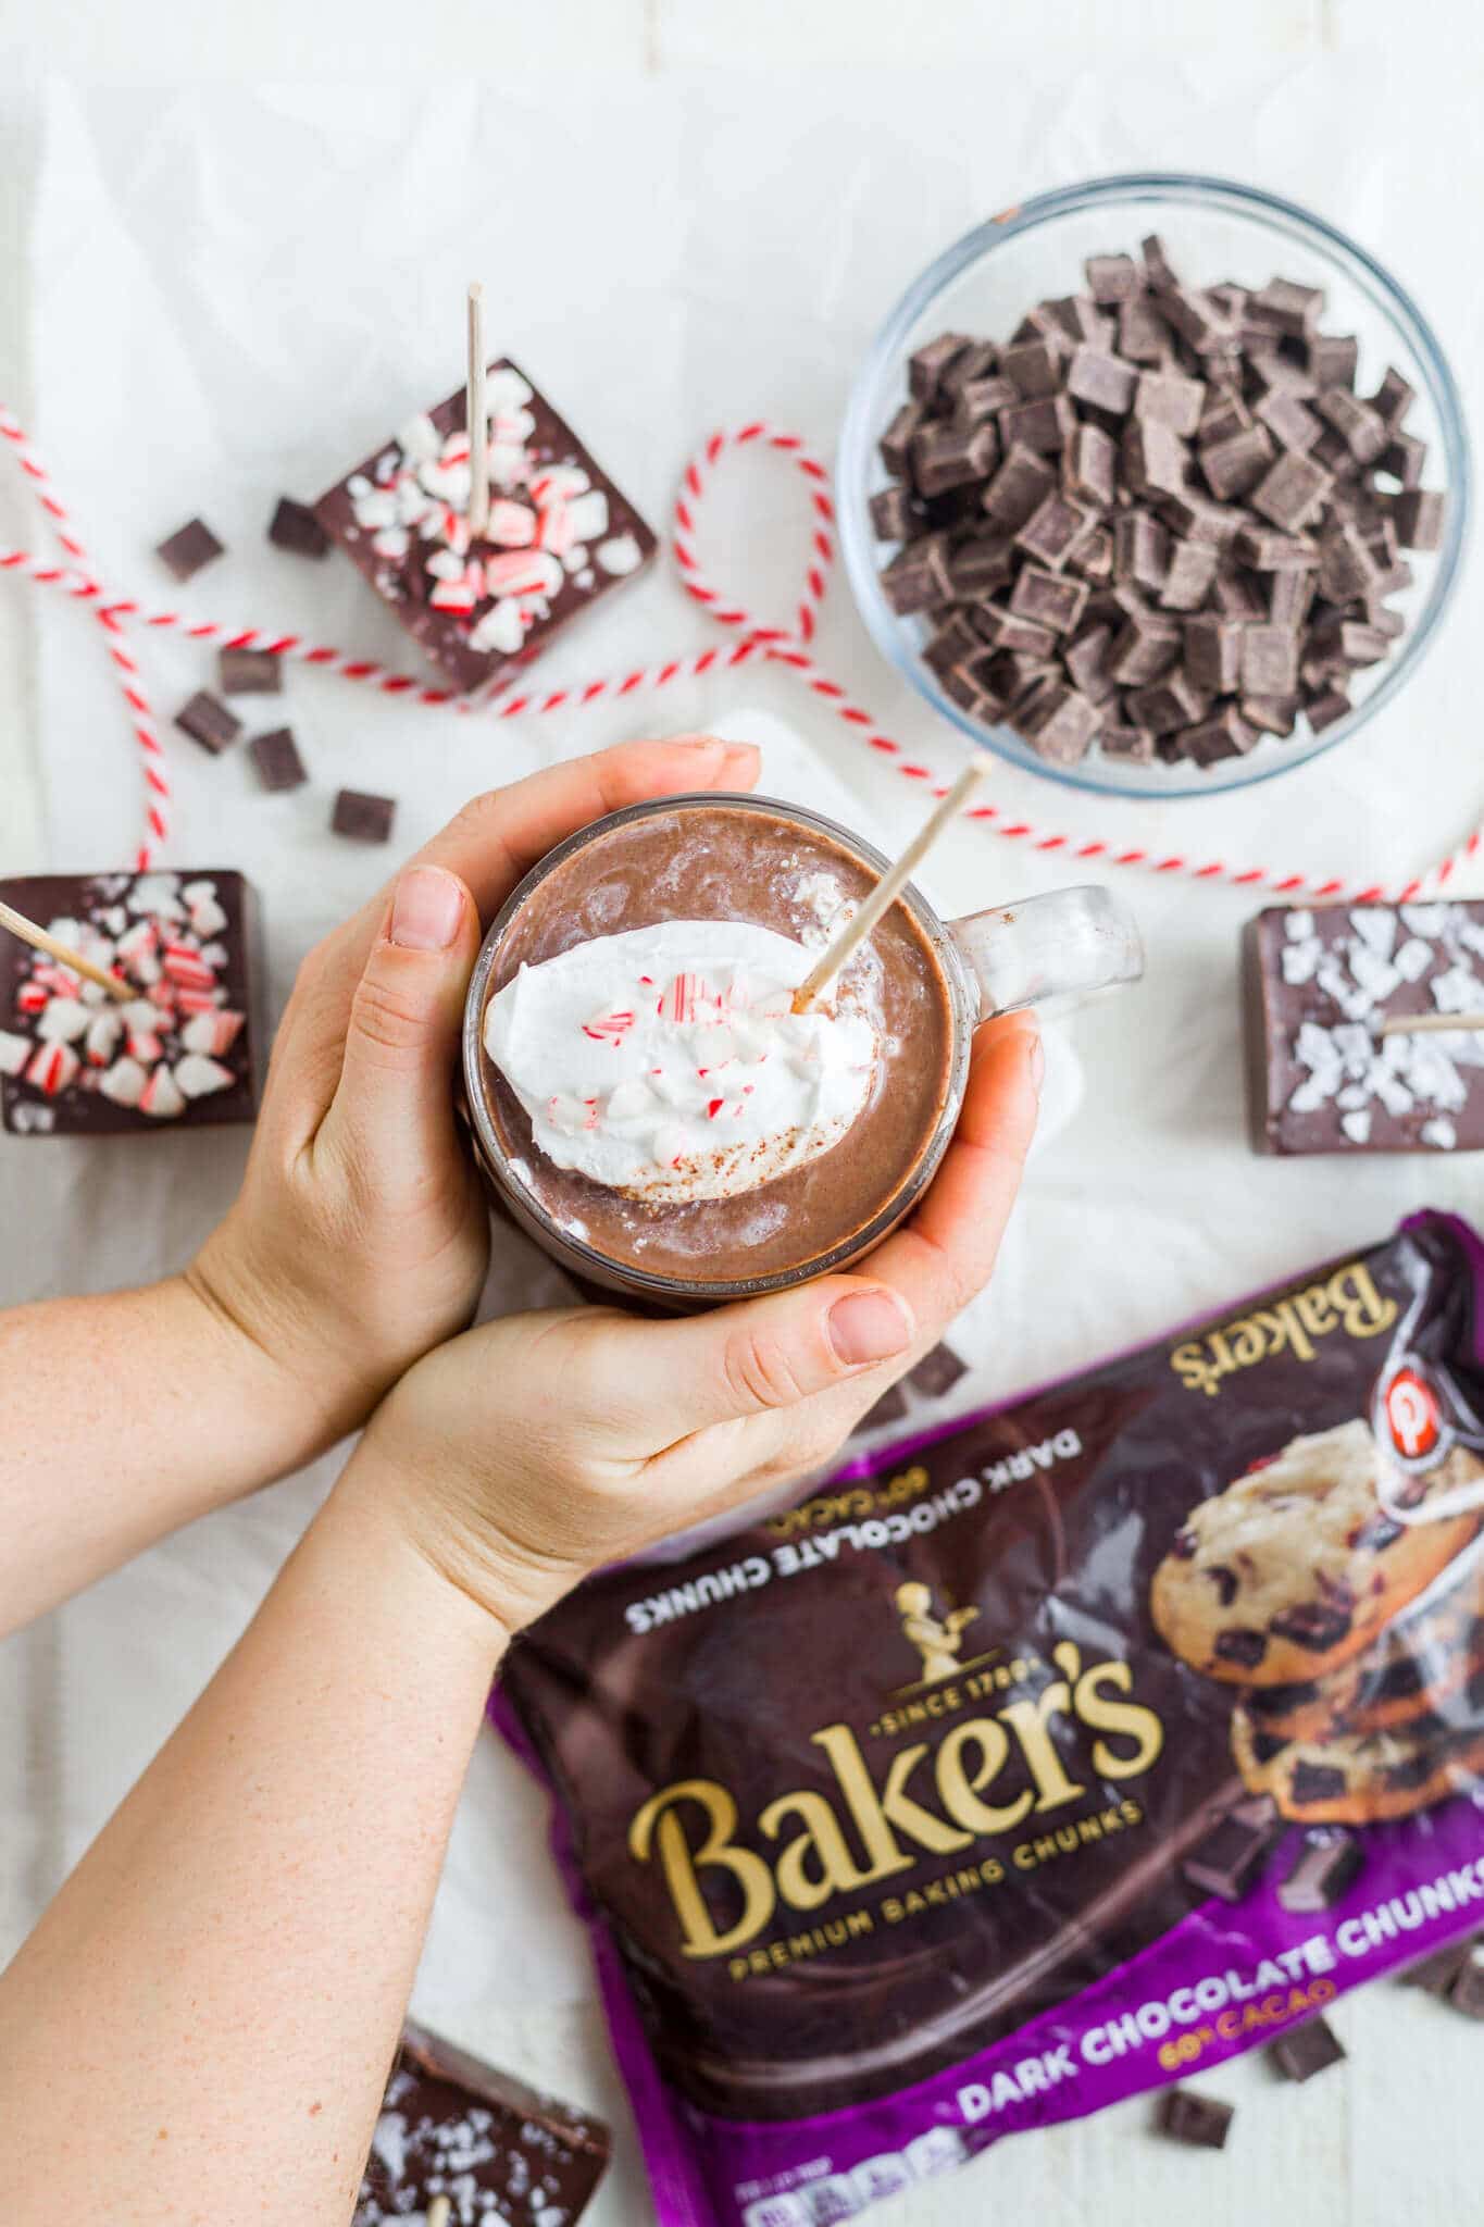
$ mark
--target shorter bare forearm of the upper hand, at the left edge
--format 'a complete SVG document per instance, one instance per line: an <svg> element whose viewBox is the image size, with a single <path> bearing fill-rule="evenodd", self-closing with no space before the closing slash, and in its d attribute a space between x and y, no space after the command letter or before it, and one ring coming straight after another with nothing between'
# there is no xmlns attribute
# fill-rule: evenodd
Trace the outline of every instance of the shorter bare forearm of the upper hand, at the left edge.
<svg viewBox="0 0 1484 2227"><path fill-rule="evenodd" d="M0 1635L327 1439L185 1276L0 1314Z"/></svg>

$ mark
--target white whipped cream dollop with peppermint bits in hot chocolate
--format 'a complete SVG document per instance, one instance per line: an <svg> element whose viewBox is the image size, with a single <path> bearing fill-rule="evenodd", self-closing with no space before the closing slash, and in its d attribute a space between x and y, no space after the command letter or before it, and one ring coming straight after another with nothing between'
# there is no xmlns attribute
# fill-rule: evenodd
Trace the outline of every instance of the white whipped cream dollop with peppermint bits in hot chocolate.
<svg viewBox="0 0 1484 2227"><path fill-rule="evenodd" d="M792 1011L817 958L743 920L598 935L489 1000L485 1051L556 1167L652 1205L734 1198L839 1145L872 1093L850 993Z"/></svg>

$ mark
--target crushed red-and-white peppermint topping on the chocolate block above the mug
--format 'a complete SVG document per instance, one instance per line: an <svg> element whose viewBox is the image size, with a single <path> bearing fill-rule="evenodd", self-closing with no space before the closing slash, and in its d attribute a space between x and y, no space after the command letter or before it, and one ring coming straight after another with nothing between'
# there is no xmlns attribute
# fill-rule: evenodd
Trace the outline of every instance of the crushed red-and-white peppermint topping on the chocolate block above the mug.
<svg viewBox="0 0 1484 2227"><path fill-rule="evenodd" d="M418 412L372 465L345 481L356 530L385 559L383 583L418 570L421 601L478 655L516 657L547 624L567 581L590 592L636 572L647 555L627 526L614 530L610 490L578 461L576 443L572 461L545 454L550 443L538 441L534 403L538 396L514 365L489 370L489 523L478 541L469 537L465 425L441 432L432 414Z"/></svg>

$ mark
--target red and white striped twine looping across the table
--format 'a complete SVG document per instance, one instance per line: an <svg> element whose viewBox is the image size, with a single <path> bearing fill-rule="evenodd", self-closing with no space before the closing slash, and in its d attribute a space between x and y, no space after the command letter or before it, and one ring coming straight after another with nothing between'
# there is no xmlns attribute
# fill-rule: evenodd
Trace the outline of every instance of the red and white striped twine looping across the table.
<svg viewBox="0 0 1484 2227"><path fill-rule="evenodd" d="M105 646L113 661L118 686L127 706L129 726L142 753L145 840L136 853L140 871L151 864L156 848L169 840L167 806L171 791L165 748L149 706L149 695L145 690L138 661L129 648L133 628L154 632L169 630L187 641L209 641L218 648L271 650L276 657L305 666L318 666L325 673L338 673L340 679L347 681L360 681L378 695L403 697L405 702L429 710L452 710L465 717L487 719L521 719L554 710L576 710L585 704L614 702L647 688L665 688L672 681L701 679L708 673L734 670L736 666L752 661L779 664L797 673L803 686L819 697L819 702L828 704L837 719L843 719L865 748L892 764L903 779L917 782L928 795L934 797L948 793L948 782L934 766L923 764L912 750L906 748L906 744L883 733L874 717L861 704L852 702L848 690L814 664L810 644L814 641L819 608L823 604L830 583L830 568L834 563L834 503L830 497L830 474L825 465L810 454L799 434L776 432L763 421L741 425L734 432L714 432L685 465L674 503L672 548L681 583L685 592L708 612L708 617L719 626L730 628L736 639L725 648L716 646L685 657L672 657L659 666L634 666L630 673L607 675L605 679L583 684L574 681L565 688L527 690L496 699L456 695L452 688L432 688L414 675L394 673L369 657L354 657L347 650L314 641L307 635L283 635L263 626L222 626L216 619L191 619L180 610L151 610L133 597L113 595L96 575L71 514L56 494L51 479L38 461L24 430L2 405L0 439L20 465L62 548L62 559L51 561L20 548L0 550L0 572L13 572L20 579L33 579L40 586L60 590L73 601L85 604L102 628ZM754 619L745 604L723 595L710 583L701 568L701 559L696 557L699 510L705 497L708 479L728 450L743 448L768 450L776 457L785 457L805 481L812 526L803 568L803 588L792 628L763 626ZM1003 835L1008 842L1019 842L1021 846L1039 853L1059 853L1077 864L1137 866L1146 873L1177 875L1195 882L1221 882L1233 889L1262 889L1270 895L1304 895L1351 904L1406 902L1424 889L1444 889L1460 866L1477 857L1480 848L1484 848L1484 826L1475 826L1473 833L1448 853L1448 857L1424 869L1413 880L1388 889L1384 884L1362 884L1348 875L1284 873L1275 866L1239 866L1221 857L1201 860L1184 851L1159 851L1115 837L1061 835L1015 813L1006 813L997 804L972 804L966 817L977 820L992 835Z"/></svg>

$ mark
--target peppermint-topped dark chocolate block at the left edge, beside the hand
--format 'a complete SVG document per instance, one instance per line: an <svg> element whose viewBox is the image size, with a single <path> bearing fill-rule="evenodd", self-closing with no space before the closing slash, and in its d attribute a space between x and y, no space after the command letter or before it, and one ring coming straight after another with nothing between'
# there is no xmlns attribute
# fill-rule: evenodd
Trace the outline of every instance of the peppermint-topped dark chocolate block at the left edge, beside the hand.
<svg viewBox="0 0 1484 2227"><path fill-rule="evenodd" d="M240 873L40 873L0 882L0 897L136 991L120 1004L0 929L0 1116L11 1136L254 1120L258 922Z"/></svg>

